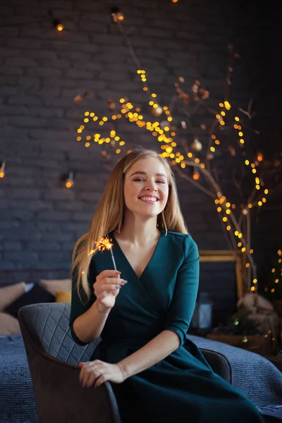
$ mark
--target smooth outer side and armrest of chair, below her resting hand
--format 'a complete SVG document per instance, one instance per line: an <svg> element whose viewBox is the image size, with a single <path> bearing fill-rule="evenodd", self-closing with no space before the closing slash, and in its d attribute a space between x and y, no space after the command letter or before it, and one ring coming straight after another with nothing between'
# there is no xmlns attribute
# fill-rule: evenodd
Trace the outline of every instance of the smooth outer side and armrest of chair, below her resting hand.
<svg viewBox="0 0 282 423"><path fill-rule="evenodd" d="M19 322L40 423L121 423L109 381L98 388L82 388L80 367L45 353L23 320Z"/></svg>

